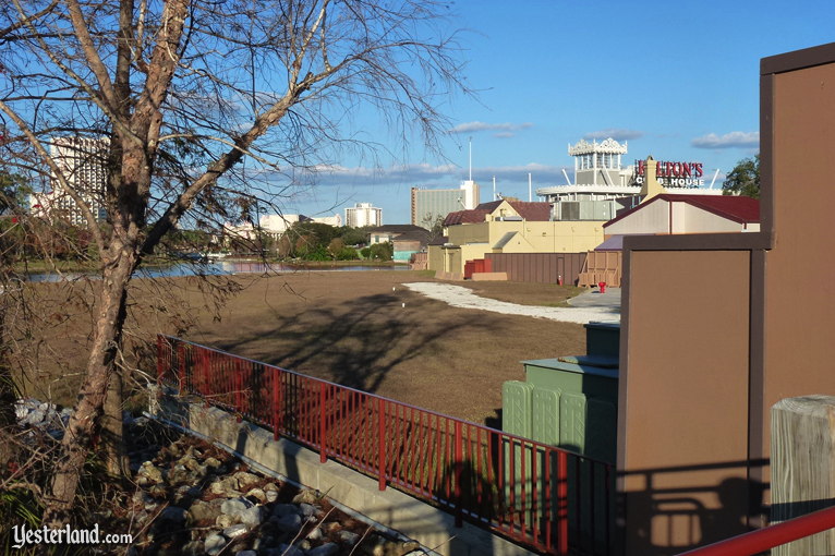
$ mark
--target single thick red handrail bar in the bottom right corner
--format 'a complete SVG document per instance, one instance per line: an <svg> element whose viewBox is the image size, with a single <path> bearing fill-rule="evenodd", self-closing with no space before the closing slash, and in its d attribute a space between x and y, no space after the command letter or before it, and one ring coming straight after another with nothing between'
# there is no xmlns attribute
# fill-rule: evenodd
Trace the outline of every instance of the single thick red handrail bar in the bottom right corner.
<svg viewBox="0 0 835 556"><path fill-rule="evenodd" d="M835 507L727 539L679 556L750 556L835 527Z"/></svg>

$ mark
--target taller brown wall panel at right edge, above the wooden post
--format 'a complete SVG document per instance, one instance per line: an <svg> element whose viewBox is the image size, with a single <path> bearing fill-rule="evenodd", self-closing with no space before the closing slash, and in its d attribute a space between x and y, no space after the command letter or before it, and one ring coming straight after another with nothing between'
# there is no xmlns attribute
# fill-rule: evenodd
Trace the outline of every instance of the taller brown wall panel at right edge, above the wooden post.
<svg viewBox="0 0 835 556"><path fill-rule="evenodd" d="M774 76L774 249L765 254L763 446L783 398L835 394L835 63ZM767 456L767 451L765 454Z"/></svg>

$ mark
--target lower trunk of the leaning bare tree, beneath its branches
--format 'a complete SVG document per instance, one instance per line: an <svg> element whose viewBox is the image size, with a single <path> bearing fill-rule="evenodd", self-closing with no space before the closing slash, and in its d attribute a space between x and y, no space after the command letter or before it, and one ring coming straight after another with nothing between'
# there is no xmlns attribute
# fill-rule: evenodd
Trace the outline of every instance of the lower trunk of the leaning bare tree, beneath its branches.
<svg viewBox="0 0 835 556"><path fill-rule="evenodd" d="M86 376L61 440L61 458L56 464L51 489L45 500L43 524L50 528L61 527L70 518L84 462L98 433L105 408L113 361L121 340L128 282L136 264L135 253L122 250L120 255L114 264L105 266Z"/></svg>

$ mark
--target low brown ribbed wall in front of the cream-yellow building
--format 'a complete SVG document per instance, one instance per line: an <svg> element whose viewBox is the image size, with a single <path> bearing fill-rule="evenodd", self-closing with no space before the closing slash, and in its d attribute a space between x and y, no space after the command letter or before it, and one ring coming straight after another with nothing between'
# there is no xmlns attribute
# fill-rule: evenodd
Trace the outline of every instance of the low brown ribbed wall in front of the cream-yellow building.
<svg viewBox="0 0 835 556"><path fill-rule="evenodd" d="M577 283L585 262L585 253L485 253L493 261L494 273L507 273L515 282Z"/></svg>

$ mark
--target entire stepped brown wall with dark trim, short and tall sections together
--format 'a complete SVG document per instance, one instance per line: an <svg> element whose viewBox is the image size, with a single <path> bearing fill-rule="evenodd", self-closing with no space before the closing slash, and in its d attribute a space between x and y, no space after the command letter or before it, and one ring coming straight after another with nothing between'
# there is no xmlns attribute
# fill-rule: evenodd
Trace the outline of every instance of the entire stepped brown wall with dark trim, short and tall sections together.
<svg viewBox="0 0 835 556"><path fill-rule="evenodd" d="M625 241L618 484L626 554L676 554L762 525L770 408L835 392L835 297L826 290L835 270L826 235L835 206L835 44L761 68L761 231ZM677 325L689 334L675 335ZM695 521L667 497L698 508Z"/></svg>

